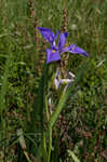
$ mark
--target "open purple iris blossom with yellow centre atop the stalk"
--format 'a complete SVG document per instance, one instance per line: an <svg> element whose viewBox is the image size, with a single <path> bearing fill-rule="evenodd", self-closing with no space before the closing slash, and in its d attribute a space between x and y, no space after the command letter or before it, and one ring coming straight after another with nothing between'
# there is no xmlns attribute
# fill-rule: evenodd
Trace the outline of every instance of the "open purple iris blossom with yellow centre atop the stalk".
<svg viewBox="0 0 107 162"><path fill-rule="evenodd" d="M51 62L56 62L61 59L61 55L65 52L70 52L72 54L81 54L83 56L89 56L88 53L82 50L79 46L76 46L75 44L69 45L68 48L65 46L66 39L68 37L68 32L59 32L55 35L52 30L43 27L37 28L40 33L43 36L43 38L50 43L51 49L46 49L46 64ZM57 39L57 36L59 35L58 44L55 44L55 40Z"/></svg>

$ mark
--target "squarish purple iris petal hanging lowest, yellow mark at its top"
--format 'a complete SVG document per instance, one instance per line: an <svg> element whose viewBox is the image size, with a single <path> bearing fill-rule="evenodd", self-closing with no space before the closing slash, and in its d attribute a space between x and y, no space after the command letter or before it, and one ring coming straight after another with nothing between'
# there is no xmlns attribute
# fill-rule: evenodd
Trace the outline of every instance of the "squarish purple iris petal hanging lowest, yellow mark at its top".
<svg viewBox="0 0 107 162"><path fill-rule="evenodd" d="M58 51L54 51L52 49L46 49L46 54L48 54L46 64L61 59L61 55L59 55Z"/></svg>

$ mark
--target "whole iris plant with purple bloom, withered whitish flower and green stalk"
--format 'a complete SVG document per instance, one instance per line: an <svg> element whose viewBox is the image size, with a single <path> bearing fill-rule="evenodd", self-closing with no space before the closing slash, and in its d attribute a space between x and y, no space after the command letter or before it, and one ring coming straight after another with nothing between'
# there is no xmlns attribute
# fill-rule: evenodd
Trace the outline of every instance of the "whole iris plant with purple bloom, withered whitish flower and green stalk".
<svg viewBox="0 0 107 162"><path fill-rule="evenodd" d="M84 50L77 46L76 44L70 44L67 48L65 46L66 39L68 37L67 31L64 31L64 32L57 31L56 33L54 33L52 30L48 28L43 28L43 27L38 27L37 29L43 36L45 41L50 43L50 46L51 46L50 49L46 49L46 64L51 64L53 62L57 63L57 60L62 59L62 54L66 52L69 52L72 54L80 54L86 57L89 56L89 54ZM56 44L57 36L59 38L58 44ZM49 111L49 106L52 107L53 105L50 100L51 98L48 97L48 90L49 90L48 85L50 85L50 83L46 85L44 107L45 107L48 130L45 132L43 131L43 140L42 140L43 141L42 143L43 144L42 156L43 156L44 162L51 162L53 126L55 125L55 122L57 121L69 95L71 94L72 96L75 94L76 86L78 85L79 81L83 77L83 71L85 70L86 67L88 67L88 63L85 63L81 67L81 69L77 73L77 77L75 77L72 72L68 72L69 78L68 77L65 78L61 76L59 67L56 66L56 72L55 73L53 72L54 75L52 73L51 79L53 80L54 85L55 85L55 91L58 93L58 96L59 96L57 97L57 100L58 99L59 100L58 100L56 108L54 109L52 113L50 113ZM49 76L46 75L46 77ZM62 86L64 87L63 90L62 90ZM49 137L49 141L45 140L46 136Z"/></svg>

